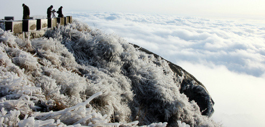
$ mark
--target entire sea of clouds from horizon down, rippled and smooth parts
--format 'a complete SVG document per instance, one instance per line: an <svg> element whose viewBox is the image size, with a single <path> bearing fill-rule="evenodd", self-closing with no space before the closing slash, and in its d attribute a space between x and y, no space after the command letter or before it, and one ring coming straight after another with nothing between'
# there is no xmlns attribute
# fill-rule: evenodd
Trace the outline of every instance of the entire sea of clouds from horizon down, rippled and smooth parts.
<svg viewBox="0 0 265 127"><path fill-rule="evenodd" d="M68 12L182 66L215 101L224 126L264 126L265 23L112 12ZM257 23L259 22L259 23Z"/></svg>

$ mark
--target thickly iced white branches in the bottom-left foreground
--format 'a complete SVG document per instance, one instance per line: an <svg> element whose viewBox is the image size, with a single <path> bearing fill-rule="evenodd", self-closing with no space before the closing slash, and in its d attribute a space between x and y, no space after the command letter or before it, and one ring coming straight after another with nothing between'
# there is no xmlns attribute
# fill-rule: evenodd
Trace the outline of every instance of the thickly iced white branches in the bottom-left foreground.
<svg viewBox="0 0 265 127"><path fill-rule="evenodd" d="M28 117L28 114L25 115L24 119L19 119L21 115L21 110L10 110L7 112L4 107L1 108L0 112L0 125L1 126L19 126L19 127L41 127L41 126L65 126L67 125L76 125L76 126L88 126L88 127L98 127L98 126L119 126L119 123L108 123L107 115L102 116L100 113L96 112L92 107L86 108L86 105L97 96L101 95L102 92L98 92L91 96L83 103L79 103L76 106L72 106L56 112L47 112L39 113L36 112L32 114L31 117ZM23 96L23 98L25 98ZM29 98L26 97L27 102L30 102ZM26 101L25 100L25 101ZM22 104L22 100L14 100L16 105ZM10 101L1 100L1 103L10 103ZM11 102L12 103L12 102ZM32 102L31 102L32 103ZM38 119L38 120L36 120ZM56 120L56 122L55 122ZM62 123L63 122L63 123ZM125 125L133 125L138 122L128 123Z"/></svg>

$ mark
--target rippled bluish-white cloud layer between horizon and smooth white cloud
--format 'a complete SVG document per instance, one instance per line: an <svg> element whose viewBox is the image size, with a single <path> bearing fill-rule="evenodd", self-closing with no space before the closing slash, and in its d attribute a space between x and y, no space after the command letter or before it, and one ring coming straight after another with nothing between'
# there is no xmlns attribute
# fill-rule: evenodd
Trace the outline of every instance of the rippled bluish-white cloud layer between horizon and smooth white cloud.
<svg viewBox="0 0 265 127"><path fill-rule="evenodd" d="M179 63L224 65L265 77L265 27L238 21L126 13L70 13Z"/></svg>

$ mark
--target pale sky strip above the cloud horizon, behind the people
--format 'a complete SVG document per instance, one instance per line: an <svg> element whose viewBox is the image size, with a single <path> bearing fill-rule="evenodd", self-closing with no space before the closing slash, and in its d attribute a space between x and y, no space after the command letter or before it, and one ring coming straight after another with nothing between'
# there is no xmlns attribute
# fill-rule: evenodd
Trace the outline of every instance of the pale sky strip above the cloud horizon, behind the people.
<svg viewBox="0 0 265 127"><path fill-rule="evenodd" d="M265 0L0 0L0 18L14 16L22 19L22 3L31 15L46 15L53 5L63 11L107 11L129 13L170 14L214 18L243 18L265 20ZM15 4L14 4L15 3Z"/></svg>

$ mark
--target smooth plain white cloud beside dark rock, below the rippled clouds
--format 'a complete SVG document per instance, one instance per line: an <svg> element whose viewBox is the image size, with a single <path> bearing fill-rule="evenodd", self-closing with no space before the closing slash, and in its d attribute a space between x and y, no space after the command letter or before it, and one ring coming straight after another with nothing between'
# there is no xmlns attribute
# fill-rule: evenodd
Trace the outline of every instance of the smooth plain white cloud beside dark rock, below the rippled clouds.
<svg viewBox="0 0 265 127"><path fill-rule="evenodd" d="M180 62L202 82L215 104L212 118L226 127L263 127L265 79L229 71L225 66Z"/></svg>

